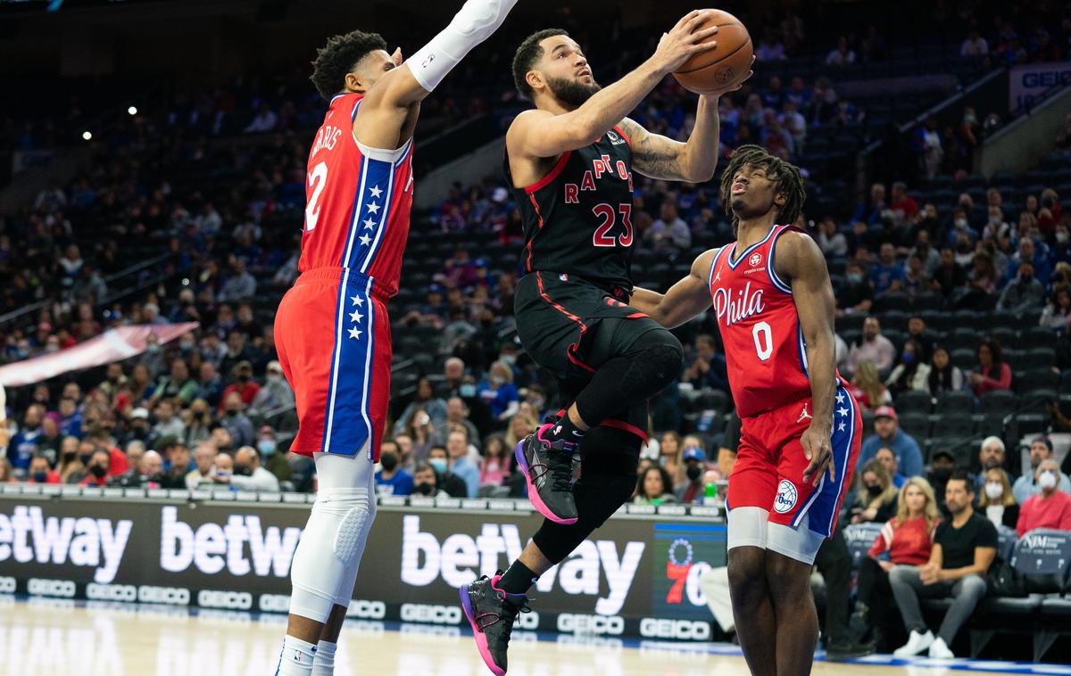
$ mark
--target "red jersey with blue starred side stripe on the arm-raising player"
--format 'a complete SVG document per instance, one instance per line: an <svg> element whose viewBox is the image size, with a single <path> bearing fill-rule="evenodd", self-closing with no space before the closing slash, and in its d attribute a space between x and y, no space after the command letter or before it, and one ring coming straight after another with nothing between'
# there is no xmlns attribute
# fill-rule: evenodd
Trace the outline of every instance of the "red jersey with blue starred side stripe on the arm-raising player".
<svg viewBox="0 0 1071 676"><path fill-rule="evenodd" d="M308 153L305 227L298 270L345 268L397 293L412 206L412 139L398 150L353 136L361 94L331 99Z"/></svg>

